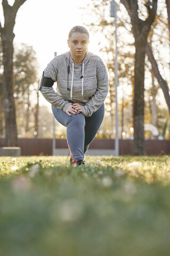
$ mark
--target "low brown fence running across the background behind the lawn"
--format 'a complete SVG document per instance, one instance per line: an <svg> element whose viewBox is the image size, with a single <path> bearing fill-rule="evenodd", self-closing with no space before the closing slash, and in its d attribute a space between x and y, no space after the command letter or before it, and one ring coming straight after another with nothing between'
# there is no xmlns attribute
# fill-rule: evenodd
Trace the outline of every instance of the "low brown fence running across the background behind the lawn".
<svg viewBox="0 0 170 256"><path fill-rule="evenodd" d="M52 139L19 139L22 156L52 155ZM133 154L133 140L119 140L120 155ZM146 140L146 155L170 155L170 140ZM0 138L0 147L5 147L5 139ZM67 148L64 139L56 139L56 148ZM89 149L114 149L114 140L96 139L91 142Z"/></svg>

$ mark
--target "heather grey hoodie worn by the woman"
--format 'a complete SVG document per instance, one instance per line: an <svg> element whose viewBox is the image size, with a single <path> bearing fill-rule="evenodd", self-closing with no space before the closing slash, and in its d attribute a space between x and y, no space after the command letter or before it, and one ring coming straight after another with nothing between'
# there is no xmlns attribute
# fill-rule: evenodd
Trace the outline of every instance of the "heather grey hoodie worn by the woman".
<svg viewBox="0 0 170 256"><path fill-rule="evenodd" d="M69 89L67 90L70 52L56 56L44 70L44 76L57 82L53 87L40 88L45 99L63 111L71 104L81 104L84 116L91 116L104 102L108 93L108 76L104 62L88 52L78 65L70 58ZM83 76L83 77L81 77Z"/></svg>

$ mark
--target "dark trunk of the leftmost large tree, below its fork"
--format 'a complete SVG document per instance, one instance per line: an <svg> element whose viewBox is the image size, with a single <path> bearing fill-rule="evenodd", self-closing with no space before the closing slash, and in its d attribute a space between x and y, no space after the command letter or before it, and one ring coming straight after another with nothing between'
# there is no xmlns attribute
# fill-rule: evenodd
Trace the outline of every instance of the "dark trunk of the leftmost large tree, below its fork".
<svg viewBox="0 0 170 256"><path fill-rule="evenodd" d="M14 34L8 35L7 29L2 29L3 46L3 88L4 88L4 112L5 112L5 134L7 147L17 147L17 129L15 117L15 103L13 97L13 38Z"/></svg>

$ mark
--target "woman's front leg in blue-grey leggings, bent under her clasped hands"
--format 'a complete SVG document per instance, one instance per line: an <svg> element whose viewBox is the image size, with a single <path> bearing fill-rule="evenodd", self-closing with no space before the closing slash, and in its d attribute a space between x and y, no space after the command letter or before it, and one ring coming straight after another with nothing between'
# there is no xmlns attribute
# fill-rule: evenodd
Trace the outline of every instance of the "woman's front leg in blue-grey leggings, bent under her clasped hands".
<svg viewBox="0 0 170 256"><path fill-rule="evenodd" d="M84 158L84 125L85 118L82 114L67 115L63 110L52 105L53 115L56 120L67 127L67 144L71 153L73 163L83 161Z"/></svg>

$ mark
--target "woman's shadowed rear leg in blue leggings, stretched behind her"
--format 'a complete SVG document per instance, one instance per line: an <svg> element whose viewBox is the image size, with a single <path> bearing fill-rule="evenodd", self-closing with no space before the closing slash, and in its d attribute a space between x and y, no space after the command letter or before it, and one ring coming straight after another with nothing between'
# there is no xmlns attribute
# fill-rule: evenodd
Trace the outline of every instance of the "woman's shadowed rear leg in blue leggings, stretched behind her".
<svg viewBox="0 0 170 256"><path fill-rule="evenodd" d="M96 133L98 132L101 123L103 122L105 115L104 103L101 107L90 117L85 117L85 138L84 138L84 153L88 150L88 147L92 140L94 140Z"/></svg>

